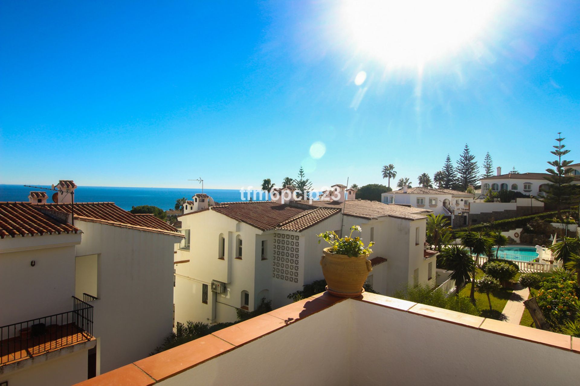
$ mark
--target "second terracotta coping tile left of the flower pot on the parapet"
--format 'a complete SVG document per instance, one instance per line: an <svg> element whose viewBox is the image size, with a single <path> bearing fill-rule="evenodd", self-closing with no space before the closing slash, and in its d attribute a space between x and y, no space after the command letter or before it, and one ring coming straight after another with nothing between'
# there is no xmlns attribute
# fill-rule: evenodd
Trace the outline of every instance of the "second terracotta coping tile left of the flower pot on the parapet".
<svg viewBox="0 0 580 386"><path fill-rule="evenodd" d="M233 345L242 345L287 325L282 319L262 314L213 333Z"/></svg>

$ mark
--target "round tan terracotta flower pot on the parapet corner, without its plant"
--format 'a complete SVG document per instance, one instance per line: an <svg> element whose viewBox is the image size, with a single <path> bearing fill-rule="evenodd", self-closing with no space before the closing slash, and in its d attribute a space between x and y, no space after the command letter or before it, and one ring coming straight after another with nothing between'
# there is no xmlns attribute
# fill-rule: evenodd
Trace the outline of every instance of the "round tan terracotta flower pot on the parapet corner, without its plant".
<svg viewBox="0 0 580 386"><path fill-rule="evenodd" d="M322 274L328 285L328 292L340 297L356 297L364 292L362 285L367 280L372 264L368 253L356 258L346 255L336 255L329 252L332 247L324 248L320 259Z"/></svg>

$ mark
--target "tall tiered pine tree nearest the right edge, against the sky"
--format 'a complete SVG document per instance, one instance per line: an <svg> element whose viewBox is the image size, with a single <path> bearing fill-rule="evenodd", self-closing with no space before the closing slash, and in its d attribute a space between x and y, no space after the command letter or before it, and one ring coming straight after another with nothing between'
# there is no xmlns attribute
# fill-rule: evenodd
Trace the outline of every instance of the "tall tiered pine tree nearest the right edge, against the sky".
<svg viewBox="0 0 580 386"><path fill-rule="evenodd" d="M556 138L558 144L553 146L556 150L550 152L558 157L558 159L548 161L548 163L554 168L546 169L550 176L544 177L550 182L546 184L548 185L548 188L544 189L546 196L544 198L538 198L538 200L543 203L556 205L558 218L563 222L564 219L562 218L561 210L565 205L570 204L571 196L574 194L572 191L573 186L571 185L571 182L574 181L574 177L571 177L570 175L572 168L568 167L568 165L574 161L562 160L562 157L570 153L570 150L564 150L565 145L562 144L562 141L564 141L565 138L561 138L560 134L561 133L558 133L558 138Z"/></svg>

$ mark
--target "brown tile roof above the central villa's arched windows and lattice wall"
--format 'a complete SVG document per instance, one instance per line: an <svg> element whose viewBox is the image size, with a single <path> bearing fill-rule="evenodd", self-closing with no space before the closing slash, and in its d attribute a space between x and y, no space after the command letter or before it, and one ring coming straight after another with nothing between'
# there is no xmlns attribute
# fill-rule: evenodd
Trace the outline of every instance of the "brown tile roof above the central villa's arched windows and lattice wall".
<svg viewBox="0 0 580 386"><path fill-rule="evenodd" d="M202 211L191 212L187 215L193 215L205 212L210 208ZM292 230L302 231L340 211L317 210L316 208L296 208L287 204L278 204L275 201L245 201L242 203L223 203L211 207L212 211L219 212L234 220L238 220L260 230ZM182 217L182 216L180 216Z"/></svg>

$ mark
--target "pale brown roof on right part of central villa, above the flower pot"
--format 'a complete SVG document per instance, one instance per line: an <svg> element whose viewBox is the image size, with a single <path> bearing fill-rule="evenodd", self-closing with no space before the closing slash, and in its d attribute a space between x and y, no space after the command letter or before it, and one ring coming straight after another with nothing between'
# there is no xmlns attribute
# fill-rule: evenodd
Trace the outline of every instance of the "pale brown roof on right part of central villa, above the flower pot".
<svg viewBox="0 0 580 386"><path fill-rule="evenodd" d="M426 218L427 214L432 213L429 209L402 207L394 204L383 204L378 201L368 200L346 200L344 203L336 201L297 201L296 204L301 207L322 207L322 208L339 208L343 209L347 216L360 217L365 219L377 219L380 217L394 217L405 220L417 220Z"/></svg>

